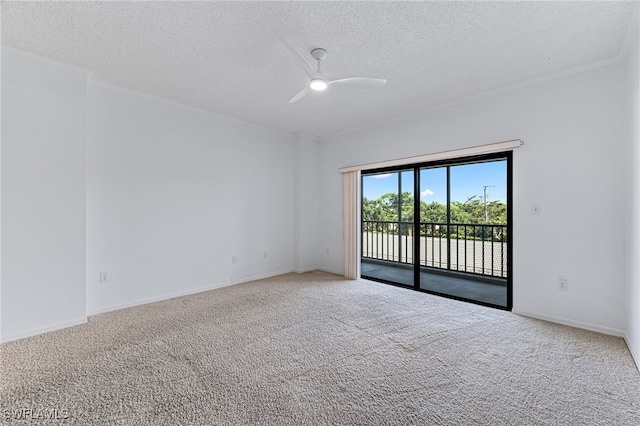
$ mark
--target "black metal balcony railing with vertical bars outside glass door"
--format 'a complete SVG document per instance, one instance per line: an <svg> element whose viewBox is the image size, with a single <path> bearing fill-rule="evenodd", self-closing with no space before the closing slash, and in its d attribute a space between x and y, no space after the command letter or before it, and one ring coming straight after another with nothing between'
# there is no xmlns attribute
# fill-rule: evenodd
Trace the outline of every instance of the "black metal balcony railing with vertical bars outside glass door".
<svg viewBox="0 0 640 426"><path fill-rule="evenodd" d="M507 277L507 226L420 222L420 266ZM414 264L413 222L362 221L362 257Z"/></svg>

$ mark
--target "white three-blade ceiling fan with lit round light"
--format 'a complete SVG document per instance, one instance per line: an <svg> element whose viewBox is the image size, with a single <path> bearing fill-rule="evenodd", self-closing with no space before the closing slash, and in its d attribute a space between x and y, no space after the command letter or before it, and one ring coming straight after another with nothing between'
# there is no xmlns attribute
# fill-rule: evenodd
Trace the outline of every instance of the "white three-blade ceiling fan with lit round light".
<svg viewBox="0 0 640 426"><path fill-rule="evenodd" d="M326 74L323 74L320 71L320 63L327 58L327 51L324 49L313 49L311 51L311 56L313 59L318 61L318 66L316 70L313 69L311 64L298 53L289 43L287 43L282 37L278 37L278 40L282 44L282 46L287 50L293 59L296 60L302 71L307 74L309 77L309 85L298 92L289 103L292 104L294 102L299 101L306 95L308 95L312 90L322 91L326 90L327 87L333 84L339 84L342 86L352 87L355 89L375 89L377 87L382 87L387 84L387 80L383 78L367 78L367 77L347 77L347 78L331 78Z"/></svg>

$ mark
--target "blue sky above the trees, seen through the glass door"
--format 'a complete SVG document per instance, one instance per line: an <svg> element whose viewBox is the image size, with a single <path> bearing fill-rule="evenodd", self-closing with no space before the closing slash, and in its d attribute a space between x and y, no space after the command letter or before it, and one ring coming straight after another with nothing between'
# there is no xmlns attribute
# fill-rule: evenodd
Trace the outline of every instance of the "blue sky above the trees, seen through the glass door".
<svg viewBox="0 0 640 426"><path fill-rule="evenodd" d="M413 171L381 173L363 178L363 195L369 199L379 198L388 192L398 191L398 178L402 179L402 190L413 190ZM507 162L465 164L451 166L451 200L465 202L471 196L483 196L487 186L487 202L507 201ZM447 200L446 169L438 167L420 171L420 199L427 203ZM482 199L482 198L481 198Z"/></svg>

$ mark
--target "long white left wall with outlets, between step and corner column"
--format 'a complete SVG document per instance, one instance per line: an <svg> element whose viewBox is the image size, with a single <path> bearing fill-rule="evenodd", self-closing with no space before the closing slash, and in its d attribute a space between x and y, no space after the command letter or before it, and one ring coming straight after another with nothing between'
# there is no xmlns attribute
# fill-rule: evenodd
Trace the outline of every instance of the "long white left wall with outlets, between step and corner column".
<svg viewBox="0 0 640 426"><path fill-rule="evenodd" d="M89 313L294 269L293 136L98 81L88 108Z"/></svg>

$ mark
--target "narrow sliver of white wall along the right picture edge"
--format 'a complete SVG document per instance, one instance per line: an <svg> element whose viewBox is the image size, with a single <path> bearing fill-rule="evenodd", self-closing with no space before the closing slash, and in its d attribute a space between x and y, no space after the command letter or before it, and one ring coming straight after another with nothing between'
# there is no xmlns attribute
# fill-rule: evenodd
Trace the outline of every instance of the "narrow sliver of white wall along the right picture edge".
<svg viewBox="0 0 640 426"><path fill-rule="evenodd" d="M629 58L626 67L626 93L629 117L629 224L627 231L627 344L640 366L640 25L636 9L635 27L629 32Z"/></svg>

